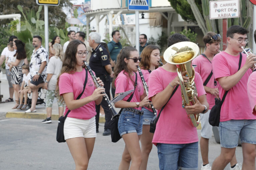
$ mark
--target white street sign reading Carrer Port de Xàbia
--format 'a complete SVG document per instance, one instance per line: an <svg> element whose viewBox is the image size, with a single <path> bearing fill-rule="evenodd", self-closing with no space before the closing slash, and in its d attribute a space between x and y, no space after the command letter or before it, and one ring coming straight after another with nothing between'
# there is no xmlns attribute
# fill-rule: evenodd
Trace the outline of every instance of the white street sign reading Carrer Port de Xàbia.
<svg viewBox="0 0 256 170"><path fill-rule="evenodd" d="M238 18L239 0L210 1L210 19Z"/></svg>

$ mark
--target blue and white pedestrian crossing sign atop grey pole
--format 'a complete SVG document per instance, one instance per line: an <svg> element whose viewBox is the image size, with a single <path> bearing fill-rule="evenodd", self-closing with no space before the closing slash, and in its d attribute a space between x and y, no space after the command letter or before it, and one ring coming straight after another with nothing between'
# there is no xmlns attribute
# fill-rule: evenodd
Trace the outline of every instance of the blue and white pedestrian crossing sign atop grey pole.
<svg viewBox="0 0 256 170"><path fill-rule="evenodd" d="M128 10L131 11L148 11L149 0L129 0Z"/></svg>

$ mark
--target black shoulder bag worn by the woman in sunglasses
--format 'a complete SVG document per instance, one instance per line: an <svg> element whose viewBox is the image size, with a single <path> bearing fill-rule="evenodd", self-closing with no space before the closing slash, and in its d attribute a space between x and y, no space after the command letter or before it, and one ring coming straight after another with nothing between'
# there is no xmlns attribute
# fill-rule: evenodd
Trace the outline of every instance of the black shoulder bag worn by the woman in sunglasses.
<svg viewBox="0 0 256 170"><path fill-rule="evenodd" d="M134 73L134 74L136 75L135 76L136 77L135 78L135 83L134 83L134 85L135 85L134 86L134 91L135 91L135 88L136 88L136 85L137 85L137 74L136 73ZM134 94L134 91L133 91L132 95L128 98L128 100L126 100L126 101L131 101L131 99L133 97L133 94ZM114 142L114 143L121 139L121 136L120 136L119 131L118 131L118 120L119 120L119 116L120 116L122 110L123 110L123 108L121 108L121 110L118 112L118 115L114 119L112 119L111 125L110 125L111 141Z"/></svg>

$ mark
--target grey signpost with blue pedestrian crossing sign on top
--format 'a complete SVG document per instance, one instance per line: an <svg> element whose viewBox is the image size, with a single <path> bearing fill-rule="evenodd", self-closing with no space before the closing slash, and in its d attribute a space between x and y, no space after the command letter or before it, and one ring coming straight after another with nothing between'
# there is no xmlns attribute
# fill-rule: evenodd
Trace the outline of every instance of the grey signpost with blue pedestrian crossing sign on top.
<svg viewBox="0 0 256 170"><path fill-rule="evenodd" d="M136 27L136 49L140 51L139 46L139 11L149 10L149 0L128 0L128 10L135 11L135 27Z"/></svg>

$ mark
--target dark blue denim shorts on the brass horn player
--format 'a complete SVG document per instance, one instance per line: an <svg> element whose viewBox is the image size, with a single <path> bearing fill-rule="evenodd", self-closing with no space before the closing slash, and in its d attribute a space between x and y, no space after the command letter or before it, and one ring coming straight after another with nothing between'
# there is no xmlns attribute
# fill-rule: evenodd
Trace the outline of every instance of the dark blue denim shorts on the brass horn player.
<svg viewBox="0 0 256 170"><path fill-rule="evenodd" d="M198 170L198 142L157 143L160 170Z"/></svg>

